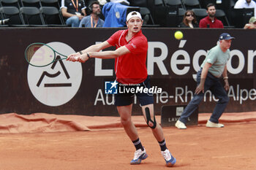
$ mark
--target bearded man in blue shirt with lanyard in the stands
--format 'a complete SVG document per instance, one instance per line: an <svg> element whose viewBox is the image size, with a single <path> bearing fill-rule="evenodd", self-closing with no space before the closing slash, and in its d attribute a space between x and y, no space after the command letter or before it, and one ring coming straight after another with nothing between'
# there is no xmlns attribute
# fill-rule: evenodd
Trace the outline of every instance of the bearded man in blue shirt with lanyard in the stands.
<svg viewBox="0 0 256 170"><path fill-rule="evenodd" d="M79 24L79 27L102 27L104 24L104 20L99 18L99 15L101 13L99 2L93 1L90 4L89 9L91 10L91 15L88 15L85 18L83 18Z"/></svg>

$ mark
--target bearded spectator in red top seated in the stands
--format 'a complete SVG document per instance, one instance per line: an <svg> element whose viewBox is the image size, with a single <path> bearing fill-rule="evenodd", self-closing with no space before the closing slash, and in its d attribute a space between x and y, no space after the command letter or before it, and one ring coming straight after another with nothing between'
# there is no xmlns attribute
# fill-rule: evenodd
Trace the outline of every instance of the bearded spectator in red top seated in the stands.
<svg viewBox="0 0 256 170"><path fill-rule="evenodd" d="M214 4L207 5L208 16L200 20L200 28L223 28L223 23L215 17L216 8Z"/></svg>

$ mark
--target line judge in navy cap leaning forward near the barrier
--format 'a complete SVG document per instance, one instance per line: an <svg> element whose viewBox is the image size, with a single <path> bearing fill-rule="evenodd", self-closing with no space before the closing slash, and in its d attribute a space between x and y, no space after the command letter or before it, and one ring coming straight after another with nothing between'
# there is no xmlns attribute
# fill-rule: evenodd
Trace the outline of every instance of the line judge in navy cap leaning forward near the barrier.
<svg viewBox="0 0 256 170"><path fill-rule="evenodd" d="M230 58L230 45L234 37L230 34L223 33L219 36L219 43L208 52L206 59L200 66L200 70L197 72L197 88L195 89L195 95L189 102L184 112L181 113L181 117L176 122L176 127L180 129L187 128L186 123L188 117L197 109L200 102L203 99L206 90L211 90L211 93L219 98L217 105L212 112L210 119L206 123L206 127L209 128L223 128L224 125L219 123L219 117L227 107L229 98L226 90L230 88L227 77L227 61ZM223 77L225 82L224 88L219 81L219 77Z"/></svg>

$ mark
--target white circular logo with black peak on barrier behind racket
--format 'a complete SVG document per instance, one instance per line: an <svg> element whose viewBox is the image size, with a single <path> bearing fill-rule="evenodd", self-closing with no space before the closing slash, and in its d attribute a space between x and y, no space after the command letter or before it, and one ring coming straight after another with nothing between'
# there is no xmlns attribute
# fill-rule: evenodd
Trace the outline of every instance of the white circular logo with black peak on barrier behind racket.
<svg viewBox="0 0 256 170"><path fill-rule="evenodd" d="M72 47L62 42L50 42L47 45L63 55L75 53ZM64 58L58 53L56 59ZM29 88L42 104L57 107L75 96L80 88L82 75L82 65L78 62L59 60L44 67L29 65Z"/></svg>

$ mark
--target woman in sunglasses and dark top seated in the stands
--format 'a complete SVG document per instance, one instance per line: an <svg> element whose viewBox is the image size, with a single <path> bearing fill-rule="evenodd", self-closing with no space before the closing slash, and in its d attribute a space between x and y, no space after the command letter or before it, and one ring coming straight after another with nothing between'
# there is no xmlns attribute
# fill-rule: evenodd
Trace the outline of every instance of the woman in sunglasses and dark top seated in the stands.
<svg viewBox="0 0 256 170"><path fill-rule="evenodd" d="M192 10L187 10L185 12L184 17L180 25L180 28L197 28L198 23L197 19L195 18L195 13Z"/></svg>

